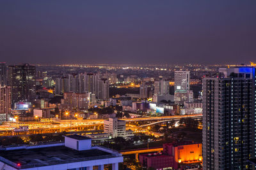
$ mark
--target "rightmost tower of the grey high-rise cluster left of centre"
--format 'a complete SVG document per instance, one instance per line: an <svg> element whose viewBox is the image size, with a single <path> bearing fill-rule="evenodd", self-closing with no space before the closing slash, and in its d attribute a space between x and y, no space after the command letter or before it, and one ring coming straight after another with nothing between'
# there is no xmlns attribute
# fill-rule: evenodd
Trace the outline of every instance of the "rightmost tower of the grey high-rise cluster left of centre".
<svg viewBox="0 0 256 170"><path fill-rule="evenodd" d="M109 83L107 79L98 80L98 99L102 101L109 100Z"/></svg>

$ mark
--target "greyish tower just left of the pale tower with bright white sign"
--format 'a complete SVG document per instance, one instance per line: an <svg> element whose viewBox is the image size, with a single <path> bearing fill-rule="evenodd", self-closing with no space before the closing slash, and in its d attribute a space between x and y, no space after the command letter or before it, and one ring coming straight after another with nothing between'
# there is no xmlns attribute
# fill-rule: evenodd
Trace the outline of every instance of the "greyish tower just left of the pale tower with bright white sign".
<svg viewBox="0 0 256 170"><path fill-rule="evenodd" d="M169 87L169 81L163 79L154 81L154 95L169 94Z"/></svg>

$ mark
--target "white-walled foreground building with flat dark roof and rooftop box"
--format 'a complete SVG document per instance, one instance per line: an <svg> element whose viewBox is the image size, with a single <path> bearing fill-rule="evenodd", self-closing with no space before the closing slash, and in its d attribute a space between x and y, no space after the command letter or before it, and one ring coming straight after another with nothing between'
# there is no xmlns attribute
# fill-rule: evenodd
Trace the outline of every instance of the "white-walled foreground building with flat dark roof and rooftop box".
<svg viewBox="0 0 256 170"><path fill-rule="evenodd" d="M0 167L5 170L103 170L107 164L118 170L119 162L122 154L92 146L92 139L76 134L65 136L65 143L1 148L0 153Z"/></svg>

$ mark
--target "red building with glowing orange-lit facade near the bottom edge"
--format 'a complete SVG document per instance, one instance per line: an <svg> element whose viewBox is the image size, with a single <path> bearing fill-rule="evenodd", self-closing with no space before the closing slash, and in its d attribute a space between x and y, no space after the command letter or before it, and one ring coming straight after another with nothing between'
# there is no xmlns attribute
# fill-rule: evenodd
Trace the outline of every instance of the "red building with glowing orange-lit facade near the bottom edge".
<svg viewBox="0 0 256 170"><path fill-rule="evenodd" d="M181 165L202 162L202 144L193 143L178 145L166 143L161 153L147 153L140 155L142 167L154 169L180 168Z"/></svg>

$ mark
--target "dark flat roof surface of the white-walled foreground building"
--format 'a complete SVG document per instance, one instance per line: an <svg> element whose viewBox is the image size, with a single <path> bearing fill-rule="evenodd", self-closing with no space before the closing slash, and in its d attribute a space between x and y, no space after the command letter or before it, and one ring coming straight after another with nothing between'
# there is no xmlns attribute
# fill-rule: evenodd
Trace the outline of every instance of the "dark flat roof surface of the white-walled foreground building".
<svg viewBox="0 0 256 170"><path fill-rule="evenodd" d="M77 151L65 146L4 150L0 152L0 156L2 162L19 169L116 157L115 154L97 148Z"/></svg>

